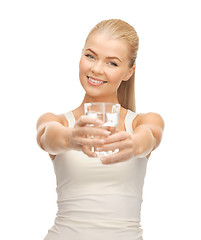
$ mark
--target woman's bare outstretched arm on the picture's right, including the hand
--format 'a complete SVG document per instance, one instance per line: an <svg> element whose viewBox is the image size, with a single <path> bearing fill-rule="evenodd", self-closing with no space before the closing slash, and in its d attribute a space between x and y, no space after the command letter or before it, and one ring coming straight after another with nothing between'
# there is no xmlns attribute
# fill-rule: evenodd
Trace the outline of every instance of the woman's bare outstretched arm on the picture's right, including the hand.
<svg viewBox="0 0 201 240"><path fill-rule="evenodd" d="M119 149L119 152L101 157L104 164L126 161L133 156L141 158L150 155L161 142L164 121L157 113L139 114L136 121L133 121L133 129L133 134L121 131L106 139L105 145L99 150Z"/></svg>

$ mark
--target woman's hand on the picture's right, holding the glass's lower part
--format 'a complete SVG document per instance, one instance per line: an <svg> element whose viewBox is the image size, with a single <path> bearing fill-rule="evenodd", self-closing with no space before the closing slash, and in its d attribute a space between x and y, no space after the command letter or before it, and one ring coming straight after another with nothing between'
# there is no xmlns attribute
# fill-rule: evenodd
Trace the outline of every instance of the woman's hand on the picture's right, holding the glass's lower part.
<svg viewBox="0 0 201 240"><path fill-rule="evenodd" d="M104 145L98 151L110 151L119 149L119 152L101 157L103 164L123 162L135 156L135 142L133 134L126 131L114 133L106 138Z"/></svg>

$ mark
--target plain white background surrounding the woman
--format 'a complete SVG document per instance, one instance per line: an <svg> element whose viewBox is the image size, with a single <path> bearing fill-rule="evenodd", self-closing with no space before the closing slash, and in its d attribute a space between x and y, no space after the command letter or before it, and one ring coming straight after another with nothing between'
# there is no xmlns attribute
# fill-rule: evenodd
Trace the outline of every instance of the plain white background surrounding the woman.
<svg viewBox="0 0 201 240"><path fill-rule="evenodd" d="M0 239L43 239L57 211L51 160L36 121L84 97L78 63L89 30L121 18L140 38L137 112L157 112L163 140L148 162L145 240L201 239L199 1L0 2Z"/></svg>

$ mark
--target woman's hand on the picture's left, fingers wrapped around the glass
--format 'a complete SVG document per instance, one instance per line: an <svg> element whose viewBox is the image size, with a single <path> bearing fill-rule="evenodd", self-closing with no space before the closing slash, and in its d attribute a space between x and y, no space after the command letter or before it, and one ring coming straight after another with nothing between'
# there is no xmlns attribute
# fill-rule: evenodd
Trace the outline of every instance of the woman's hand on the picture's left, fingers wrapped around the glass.
<svg viewBox="0 0 201 240"><path fill-rule="evenodd" d="M68 140L70 148L83 151L89 157L96 157L90 150L93 146L102 146L111 132L101 128L103 122L97 118L82 115L71 128ZM92 125L92 126L89 126ZM93 137L90 137L93 136Z"/></svg>

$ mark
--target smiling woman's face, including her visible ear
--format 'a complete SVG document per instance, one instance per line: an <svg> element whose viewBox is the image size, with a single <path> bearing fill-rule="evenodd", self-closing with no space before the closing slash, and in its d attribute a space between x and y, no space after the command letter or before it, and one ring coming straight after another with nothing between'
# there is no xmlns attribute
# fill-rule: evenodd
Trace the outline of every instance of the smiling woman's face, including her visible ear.
<svg viewBox="0 0 201 240"><path fill-rule="evenodd" d="M79 64L80 82L87 95L104 100L116 98L121 81L128 80L133 71L123 40L109 38L105 33L89 37Z"/></svg>

